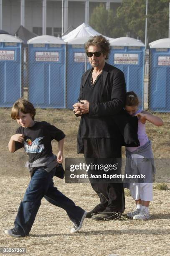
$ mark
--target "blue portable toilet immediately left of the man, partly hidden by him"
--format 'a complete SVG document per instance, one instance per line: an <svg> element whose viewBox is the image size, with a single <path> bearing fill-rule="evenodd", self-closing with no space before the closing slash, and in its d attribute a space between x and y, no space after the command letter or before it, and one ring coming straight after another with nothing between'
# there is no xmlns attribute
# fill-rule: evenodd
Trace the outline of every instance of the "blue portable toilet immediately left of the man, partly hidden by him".
<svg viewBox="0 0 170 256"><path fill-rule="evenodd" d="M84 51L89 36L77 37L67 41L66 57L66 108L73 108L80 92L81 76L91 68Z"/></svg>

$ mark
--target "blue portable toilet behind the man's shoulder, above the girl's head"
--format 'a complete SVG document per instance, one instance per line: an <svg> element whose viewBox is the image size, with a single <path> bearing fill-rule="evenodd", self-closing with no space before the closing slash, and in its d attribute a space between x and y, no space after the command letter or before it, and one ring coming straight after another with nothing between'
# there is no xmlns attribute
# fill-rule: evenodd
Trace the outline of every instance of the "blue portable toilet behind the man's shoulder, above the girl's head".
<svg viewBox="0 0 170 256"><path fill-rule="evenodd" d="M109 64L124 72L127 92L134 91L144 107L145 45L135 38L120 37L110 41Z"/></svg>

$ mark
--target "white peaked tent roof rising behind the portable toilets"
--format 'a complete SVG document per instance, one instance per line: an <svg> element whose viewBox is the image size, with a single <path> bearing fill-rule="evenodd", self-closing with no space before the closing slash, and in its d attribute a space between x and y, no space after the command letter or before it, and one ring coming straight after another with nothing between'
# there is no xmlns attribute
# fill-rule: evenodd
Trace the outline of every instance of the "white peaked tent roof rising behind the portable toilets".
<svg viewBox="0 0 170 256"><path fill-rule="evenodd" d="M66 34L65 36L62 36L62 39L65 42L68 42L74 38L78 37L90 37L90 36L96 36L101 35L99 32L95 31L91 26L87 25L86 23L81 24L74 30L72 30L70 33ZM111 40L113 38L104 36L105 38Z"/></svg>

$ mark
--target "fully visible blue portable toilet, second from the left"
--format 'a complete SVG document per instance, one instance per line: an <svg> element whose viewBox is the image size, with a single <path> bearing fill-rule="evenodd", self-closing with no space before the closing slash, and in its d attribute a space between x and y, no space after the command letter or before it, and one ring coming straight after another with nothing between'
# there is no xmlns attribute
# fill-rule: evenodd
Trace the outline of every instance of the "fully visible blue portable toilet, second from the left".
<svg viewBox="0 0 170 256"><path fill-rule="evenodd" d="M65 42L54 36L28 41L28 99L39 108L65 108Z"/></svg>

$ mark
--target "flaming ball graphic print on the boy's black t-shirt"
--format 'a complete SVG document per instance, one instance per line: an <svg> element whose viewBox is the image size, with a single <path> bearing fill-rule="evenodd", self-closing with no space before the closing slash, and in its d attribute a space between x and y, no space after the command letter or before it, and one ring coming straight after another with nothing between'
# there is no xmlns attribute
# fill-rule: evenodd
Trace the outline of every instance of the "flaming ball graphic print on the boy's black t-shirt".
<svg viewBox="0 0 170 256"><path fill-rule="evenodd" d="M44 149L44 144L40 144L44 137L36 138L31 141L29 138L24 141L24 148L27 153L40 153Z"/></svg>

